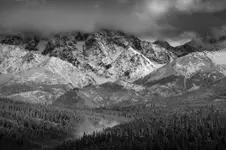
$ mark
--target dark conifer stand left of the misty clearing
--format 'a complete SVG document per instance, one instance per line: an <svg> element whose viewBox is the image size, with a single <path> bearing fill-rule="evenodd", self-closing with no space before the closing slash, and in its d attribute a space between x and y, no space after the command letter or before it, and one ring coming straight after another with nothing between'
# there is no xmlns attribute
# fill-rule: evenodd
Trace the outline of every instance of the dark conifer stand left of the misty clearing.
<svg viewBox="0 0 226 150"><path fill-rule="evenodd" d="M70 136L72 123L80 119L73 111L0 99L0 147L31 149L63 140Z"/></svg>

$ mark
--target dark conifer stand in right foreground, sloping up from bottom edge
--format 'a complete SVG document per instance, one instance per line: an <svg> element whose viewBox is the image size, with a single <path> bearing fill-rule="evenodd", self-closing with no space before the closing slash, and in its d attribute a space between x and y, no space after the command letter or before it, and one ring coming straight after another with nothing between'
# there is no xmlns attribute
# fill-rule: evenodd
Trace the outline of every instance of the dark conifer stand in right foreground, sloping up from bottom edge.
<svg viewBox="0 0 226 150"><path fill-rule="evenodd" d="M146 113L139 119L65 141L53 148L79 150L214 150L226 149L226 112L213 107L186 112Z"/></svg>

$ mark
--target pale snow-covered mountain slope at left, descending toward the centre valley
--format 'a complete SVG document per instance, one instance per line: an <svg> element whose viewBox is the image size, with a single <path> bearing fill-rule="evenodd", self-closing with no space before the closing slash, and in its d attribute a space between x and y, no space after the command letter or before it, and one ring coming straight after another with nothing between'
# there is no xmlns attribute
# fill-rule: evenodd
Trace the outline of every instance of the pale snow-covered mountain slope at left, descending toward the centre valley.
<svg viewBox="0 0 226 150"><path fill-rule="evenodd" d="M56 57L0 46L1 96L51 103L71 88L95 84L92 77Z"/></svg>

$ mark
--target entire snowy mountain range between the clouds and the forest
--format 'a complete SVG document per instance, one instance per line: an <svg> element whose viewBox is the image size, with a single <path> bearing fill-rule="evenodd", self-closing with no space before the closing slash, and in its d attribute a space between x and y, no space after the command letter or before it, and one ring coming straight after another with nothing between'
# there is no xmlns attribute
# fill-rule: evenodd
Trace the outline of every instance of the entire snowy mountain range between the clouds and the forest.
<svg viewBox="0 0 226 150"><path fill-rule="evenodd" d="M98 108L213 93L213 85L225 81L225 42L200 38L173 47L107 29L46 38L2 35L0 96Z"/></svg>

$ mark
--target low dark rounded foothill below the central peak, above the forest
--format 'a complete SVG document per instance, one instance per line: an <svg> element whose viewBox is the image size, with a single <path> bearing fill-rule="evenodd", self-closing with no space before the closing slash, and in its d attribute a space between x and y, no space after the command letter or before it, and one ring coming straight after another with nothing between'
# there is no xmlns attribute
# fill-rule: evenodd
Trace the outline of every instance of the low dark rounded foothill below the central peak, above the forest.
<svg viewBox="0 0 226 150"><path fill-rule="evenodd" d="M54 105L62 105L69 108L100 108L127 106L144 103L147 101L142 96L144 88L123 81L105 83L98 86L89 86L66 92L56 100Z"/></svg>

